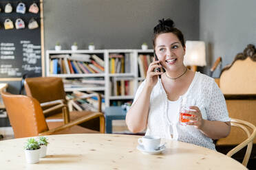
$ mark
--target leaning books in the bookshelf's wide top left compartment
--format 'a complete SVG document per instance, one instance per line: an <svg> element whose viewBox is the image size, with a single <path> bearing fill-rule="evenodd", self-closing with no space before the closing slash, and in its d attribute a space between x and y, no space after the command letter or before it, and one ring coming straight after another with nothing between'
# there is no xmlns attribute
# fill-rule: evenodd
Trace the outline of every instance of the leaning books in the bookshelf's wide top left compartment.
<svg viewBox="0 0 256 170"><path fill-rule="evenodd" d="M51 74L105 73L105 62L98 56L89 54L50 56Z"/></svg>

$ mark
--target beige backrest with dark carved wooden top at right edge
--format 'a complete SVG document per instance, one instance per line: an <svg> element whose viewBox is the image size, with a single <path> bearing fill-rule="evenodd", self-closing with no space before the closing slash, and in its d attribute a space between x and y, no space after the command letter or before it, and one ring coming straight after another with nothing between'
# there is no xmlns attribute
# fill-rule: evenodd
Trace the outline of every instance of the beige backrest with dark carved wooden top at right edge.
<svg viewBox="0 0 256 170"><path fill-rule="evenodd" d="M248 45L243 53L237 53L232 64L222 69L220 89L224 94L256 94L256 49Z"/></svg>

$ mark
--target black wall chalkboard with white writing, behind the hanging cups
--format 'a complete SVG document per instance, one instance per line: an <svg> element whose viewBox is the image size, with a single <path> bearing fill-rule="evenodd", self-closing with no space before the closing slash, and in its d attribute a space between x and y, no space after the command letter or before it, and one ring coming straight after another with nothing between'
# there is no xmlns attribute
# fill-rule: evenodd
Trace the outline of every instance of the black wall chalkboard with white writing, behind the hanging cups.
<svg viewBox="0 0 256 170"><path fill-rule="evenodd" d="M12 12L6 13L6 5L10 3ZM25 14L17 12L19 3L25 4ZM29 12L30 5L36 3L39 12ZM0 1L0 78L22 77L25 73L34 76L42 75L41 66L41 27L40 27L40 1ZM5 21L10 19L13 29L5 29ZM22 19L25 28L17 29L15 22ZM31 19L39 27L29 29Z"/></svg>

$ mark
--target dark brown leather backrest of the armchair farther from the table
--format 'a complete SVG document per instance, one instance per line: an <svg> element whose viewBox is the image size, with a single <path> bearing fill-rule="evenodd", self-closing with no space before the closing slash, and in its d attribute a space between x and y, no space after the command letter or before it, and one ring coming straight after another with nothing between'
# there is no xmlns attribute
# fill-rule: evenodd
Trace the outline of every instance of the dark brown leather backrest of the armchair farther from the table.
<svg viewBox="0 0 256 170"><path fill-rule="evenodd" d="M31 77L25 79L25 92L39 103L65 99L65 90L60 77Z"/></svg>

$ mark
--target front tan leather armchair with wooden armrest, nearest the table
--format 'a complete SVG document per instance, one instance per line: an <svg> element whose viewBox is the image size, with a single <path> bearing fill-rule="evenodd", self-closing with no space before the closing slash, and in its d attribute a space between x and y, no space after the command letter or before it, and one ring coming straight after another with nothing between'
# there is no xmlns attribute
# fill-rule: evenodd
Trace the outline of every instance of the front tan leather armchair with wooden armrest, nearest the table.
<svg viewBox="0 0 256 170"><path fill-rule="evenodd" d="M7 92L2 92L2 98L3 103L6 106L15 138L49 134L99 133L81 127L78 124L96 117L100 117L100 120L104 121L103 114L94 112L93 114L87 114L75 121L66 123L65 125L61 125L60 122L46 123L39 101L33 97L12 95Z"/></svg>

